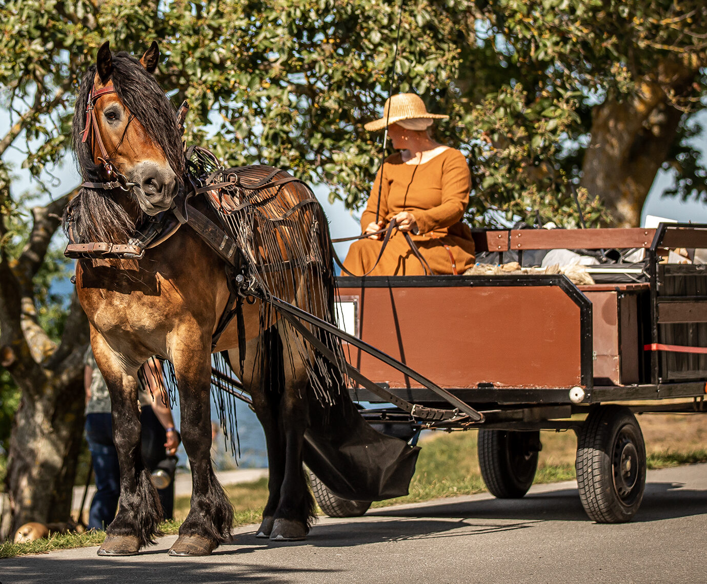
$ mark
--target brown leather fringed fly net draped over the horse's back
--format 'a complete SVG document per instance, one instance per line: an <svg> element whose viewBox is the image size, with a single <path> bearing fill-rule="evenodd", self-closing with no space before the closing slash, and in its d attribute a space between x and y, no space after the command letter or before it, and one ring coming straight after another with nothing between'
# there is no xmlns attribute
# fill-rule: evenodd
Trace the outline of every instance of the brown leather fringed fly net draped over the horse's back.
<svg viewBox="0 0 707 584"><path fill-rule="evenodd" d="M279 318L268 302L270 297L335 323L329 225L311 189L298 180L271 185L290 177L273 167L223 169L211 153L201 148L194 148L187 165L201 186L236 183L210 191L206 198L238 245L253 295L264 301L260 303L261 337ZM290 342L284 344L285 366L294 372L296 362L303 362L317 400L333 405L346 387L339 338L310 327L336 355L336 362L331 363L295 330L289 326L286 329ZM259 350L267 351L267 347Z"/></svg>

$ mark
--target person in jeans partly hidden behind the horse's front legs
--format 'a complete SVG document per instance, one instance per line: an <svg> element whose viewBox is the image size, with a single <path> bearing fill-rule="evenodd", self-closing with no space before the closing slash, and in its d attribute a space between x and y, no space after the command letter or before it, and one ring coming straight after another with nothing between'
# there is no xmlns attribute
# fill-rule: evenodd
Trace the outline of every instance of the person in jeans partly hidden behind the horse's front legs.
<svg viewBox="0 0 707 584"><path fill-rule="evenodd" d="M88 513L88 529L105 530L115 518L120 496L120 468L113 443L110 395L103 376L88 348L85 359L86 440L95 475L95 494ZM150 359L141 371L144 389L139 393L142 426L142 455L145 466L153 471L168 456L174 456L180 443L168 402L162 369L157 359ZM173 478L173 477L172 477ZM174 514L174 481L158 489L165 519Z"/></svg>

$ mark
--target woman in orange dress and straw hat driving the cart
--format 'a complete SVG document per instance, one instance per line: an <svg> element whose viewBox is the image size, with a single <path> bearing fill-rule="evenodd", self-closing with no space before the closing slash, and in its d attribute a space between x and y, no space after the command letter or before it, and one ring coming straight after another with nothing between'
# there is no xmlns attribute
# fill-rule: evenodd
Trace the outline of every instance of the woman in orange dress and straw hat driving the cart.
<svg viewBox="0 0 707 584"><path fill-rule="evenodd" d="M469 167L459 150L434 141L428 131L434 119L449 116L429 114L414 93L392 96L383 110L381 119L363 127L374 131L387 124L399 152L387 157L375 177L361 215L362 232L370 235L351 245L344 268L353 275L424 274L404 237L408 233L433 273L463 274L474 265L474 240L461 222L469 202ZM376 263L383 239L377 232L392 221L397 229Z"/></svg>

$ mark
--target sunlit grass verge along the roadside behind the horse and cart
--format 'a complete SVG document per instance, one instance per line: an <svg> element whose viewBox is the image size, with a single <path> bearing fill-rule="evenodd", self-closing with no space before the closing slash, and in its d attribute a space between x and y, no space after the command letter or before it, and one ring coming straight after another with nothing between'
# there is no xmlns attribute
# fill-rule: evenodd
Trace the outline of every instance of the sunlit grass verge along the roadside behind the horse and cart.
<svg viewBox="0 0 707 584"><path fill-rule="evenodd" d="M574 479L576 450L574 434L543 432L541 438L543 451L540 453L535 482L550 483ZM486 491L479 472L476 431L434 434L431 438L422 441L421 446L423 448L420 451L415 476L410 484L409 495L373 503L373 508ZM666 449L648 453L650 469L696 463L707 463L707 449L696 448L684 453ZM267 478L251 483L235 484L225 487L225 490L233 503L235 525L251 525L260 522L262 508L267 500ZM175 500L176 520L163 523L163 532L168 535L176 534L187 513L189 513L189 498L178 497ZM82 535L52 535L46 540L37 540L28 544L5 542L0 545L0 558L95 546L103 543L104 538L105 532L99 531Z"/></svg>

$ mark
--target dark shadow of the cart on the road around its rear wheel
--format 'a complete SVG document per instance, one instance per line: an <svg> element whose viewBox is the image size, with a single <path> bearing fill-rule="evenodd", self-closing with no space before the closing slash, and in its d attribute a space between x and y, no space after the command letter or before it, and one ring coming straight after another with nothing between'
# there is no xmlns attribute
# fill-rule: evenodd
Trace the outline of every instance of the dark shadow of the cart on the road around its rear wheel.
<svg viewBox="0 0 707 584"><path fill-rule="evenodd" d="M634 522L658 521L707 513L707 491L683 489L682 483L650 482ZM440 503L424 508L383 508L378 517L455 517L535 521L588 521L577 489L530 494L523 499L485 499Z"/></svg>

